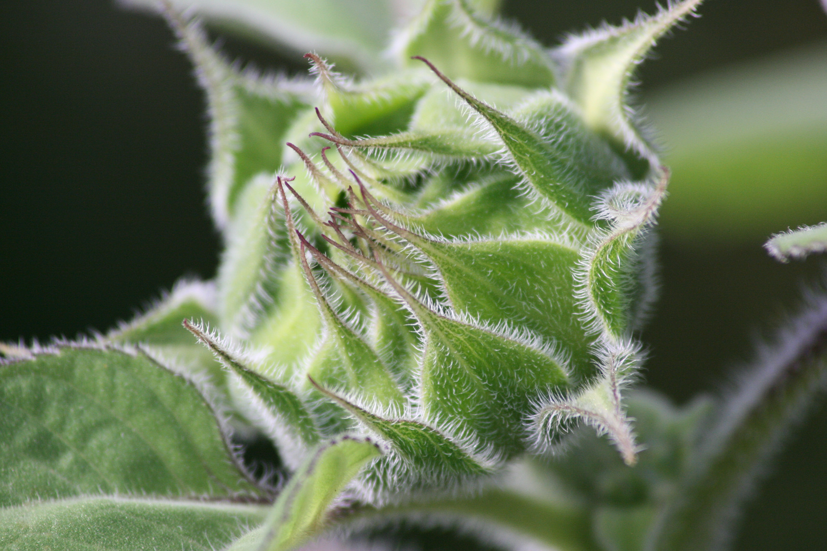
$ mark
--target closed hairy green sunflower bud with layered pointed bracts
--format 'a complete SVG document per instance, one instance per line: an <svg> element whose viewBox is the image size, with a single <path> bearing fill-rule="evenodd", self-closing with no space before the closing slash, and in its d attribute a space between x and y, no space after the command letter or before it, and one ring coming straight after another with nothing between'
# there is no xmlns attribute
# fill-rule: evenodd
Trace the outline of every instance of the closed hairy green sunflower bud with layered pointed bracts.
<svg viewBox="0 0 827 551"><path fill-rule="evenodd" d="M174 21L208 89L227 244L218 322L188 328L285 464L370 434L385 454L362 496L394 501L473 486L576 420L634 463L621 398L668 176L624 100L697 3L549 52L433 0L397 73L355 83L308 54L315 85L240 73Z"/></svg>

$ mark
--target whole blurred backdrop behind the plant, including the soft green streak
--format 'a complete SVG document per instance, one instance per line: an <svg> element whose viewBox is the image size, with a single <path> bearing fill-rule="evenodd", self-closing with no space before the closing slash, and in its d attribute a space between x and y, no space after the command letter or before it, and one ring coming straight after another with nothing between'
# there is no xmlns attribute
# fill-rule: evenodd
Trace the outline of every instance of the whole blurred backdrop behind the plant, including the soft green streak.
<svg viewBox="0 0 827 551"><path fill-rule="evenodd" d="M638 7L654 4L506 0L504 13L552 45ZM767 236L827 220L818 0L709 0L700 12L663 40L636 92L674 170L646 378L679 402L724 384L822 278L817 257L769 259ZM223 44L261 68L306 69L295 53ZM106 330L180 275L212 277L203 94L164 23L109 0L2 2L0 52L0 340ZM822 547L825 442L819 406L758 488L736 549Z"/></svg>

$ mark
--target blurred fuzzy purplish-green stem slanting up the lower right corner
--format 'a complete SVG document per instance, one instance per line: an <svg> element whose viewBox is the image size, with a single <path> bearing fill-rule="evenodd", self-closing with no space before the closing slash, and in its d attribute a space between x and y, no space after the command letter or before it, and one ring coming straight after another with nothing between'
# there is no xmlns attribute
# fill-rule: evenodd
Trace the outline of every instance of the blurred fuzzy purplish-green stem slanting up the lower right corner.
<svg viewBox="0 0 827 551"><path fill-rule="evenodd" d="M743 501L791 428L827 385L827 299L762 350L705 430L648 549L724 549Z"/></svg>

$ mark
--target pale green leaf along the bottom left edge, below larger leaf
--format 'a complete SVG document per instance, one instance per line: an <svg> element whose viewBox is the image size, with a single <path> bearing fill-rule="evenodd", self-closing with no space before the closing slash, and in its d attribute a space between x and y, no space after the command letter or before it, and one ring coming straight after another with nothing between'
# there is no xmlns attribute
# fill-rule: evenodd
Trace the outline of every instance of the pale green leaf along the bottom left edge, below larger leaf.
<svg viewBox="0 0 827 551"><path fill-rule="evenodd" d="M265 519L267 508L198 501L82 497L0 509L7 551L213 551Z"/></svg>

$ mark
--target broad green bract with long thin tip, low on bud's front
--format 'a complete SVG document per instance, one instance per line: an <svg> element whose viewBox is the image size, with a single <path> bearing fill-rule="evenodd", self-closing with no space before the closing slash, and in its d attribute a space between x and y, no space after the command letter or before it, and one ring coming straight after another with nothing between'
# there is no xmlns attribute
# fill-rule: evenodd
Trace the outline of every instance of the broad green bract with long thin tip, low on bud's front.
<svg viewBox="0 0 827 551"><path fill-rule="evenodd" d="M424 333L418 398L423 418L473 435L475 453L519 453L529 437L524 420L544 392L567 387L566 362L526 335L506 334L449 312L437 313L379 264Z"/></svg>

